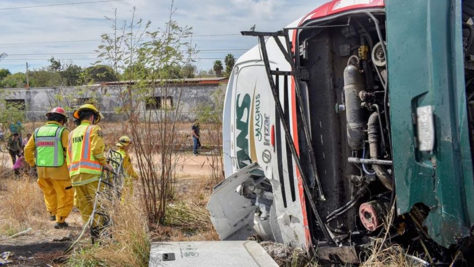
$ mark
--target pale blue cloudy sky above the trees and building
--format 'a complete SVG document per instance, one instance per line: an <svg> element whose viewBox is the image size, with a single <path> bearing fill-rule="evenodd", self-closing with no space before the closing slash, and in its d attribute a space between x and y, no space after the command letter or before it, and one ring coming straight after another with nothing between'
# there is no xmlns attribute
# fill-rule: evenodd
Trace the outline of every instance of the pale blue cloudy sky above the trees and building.
<svg viewBox="0 0 474 267"><path fill-rule="evenodd" d="M0 0L0 9L85 1L94 0ZM257 43L256 38L239 36L240 31L254 24L257 31L276 31L326 1L175 0L173 19L181 26L193 27L196 35L193 43L198 50L211 50L197 54L197 68L208 70L215 59L223 59L227 53L238 57L244 52L233 49L249 49ZM157 29L166 21L170 3L170 0L123 0L0 10L0 53L8 54L0 61L0 68L12 73L24 72L26 62L32 69L39 68L48 65L51 55L90 66L97 60L94 50L100 44L100 35L111 32L111 23L105 17L113 16L115 8L120 20L129 20L130 10L135 6L138 17L152 21L152 29Z"/></svg>

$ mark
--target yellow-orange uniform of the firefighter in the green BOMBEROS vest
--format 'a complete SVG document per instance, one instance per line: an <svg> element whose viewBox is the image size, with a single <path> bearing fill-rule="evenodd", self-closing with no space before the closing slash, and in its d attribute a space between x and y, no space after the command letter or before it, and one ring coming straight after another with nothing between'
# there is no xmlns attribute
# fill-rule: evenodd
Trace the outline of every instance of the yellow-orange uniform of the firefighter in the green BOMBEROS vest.
<svg viewBox="0 0 474 267"><path fill-rule="evenodd" d="M45 126L48 125L61 126L60 123L55 121L48 121ZM61 134L62 154L64 156L66 156L68 135L69 131L64 129ZM37 162L35 158L36 149L35 136L33 135L25 146L25 160L31 167L34 167ZM56 223L64 223L73 208L74 189L71 186L66 162L64 159L62 160L64 163L59 167L37 166L38 185L43 192L46 209L50 216L56 216Z"/></svg>

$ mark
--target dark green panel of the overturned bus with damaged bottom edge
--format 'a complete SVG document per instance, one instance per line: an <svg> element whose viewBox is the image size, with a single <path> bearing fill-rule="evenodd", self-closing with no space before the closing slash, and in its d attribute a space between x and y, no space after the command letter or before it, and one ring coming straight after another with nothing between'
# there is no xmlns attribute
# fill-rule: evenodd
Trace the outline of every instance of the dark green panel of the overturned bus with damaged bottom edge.
<svg viewBox="0 0 474 267"><path fill-rule="evenodd" d="M469 236L474 223L461 1L386 5L397 213L428 206L428 235L448 247ZM416 125L417 108L424 106L433 110L433 151L421 151L417 142L426 134Z"/></svg>

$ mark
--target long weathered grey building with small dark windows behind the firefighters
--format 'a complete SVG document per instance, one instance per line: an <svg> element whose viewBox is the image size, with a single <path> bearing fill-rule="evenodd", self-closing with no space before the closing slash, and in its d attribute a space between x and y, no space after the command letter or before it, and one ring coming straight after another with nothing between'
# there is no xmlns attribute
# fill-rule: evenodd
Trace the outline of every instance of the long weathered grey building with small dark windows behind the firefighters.
<svg viewBox="0 0 474 267"><path fill-rule="evenodd" d="M72 112L84 103L95 104L107 121L118 121L124 116L120 109L129 103L128 89L141 90L134 92L133 102L143 116L178 108L181 120L194 120L199 107L214 107L214 93L220 90L224 95L227 82L227 78L192 78L155 83L132 81L79 87L11 88L4 89L2 98L7 105L23 110L27 121L44 120L44 113L55 106Z"/></svg>

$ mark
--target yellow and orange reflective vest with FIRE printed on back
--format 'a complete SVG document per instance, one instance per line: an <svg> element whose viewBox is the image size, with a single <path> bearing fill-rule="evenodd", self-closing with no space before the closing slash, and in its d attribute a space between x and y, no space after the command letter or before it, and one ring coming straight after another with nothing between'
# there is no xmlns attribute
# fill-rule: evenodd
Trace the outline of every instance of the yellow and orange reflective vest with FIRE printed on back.
<svg viewBox="0 0 474 267"><path fill-rule="evenodd" d="M90 147L90 135L95 126L81 124L74 129L68 138L68 169L69 176L78 174L102 173L102 165L92 154Z"/></svg>

